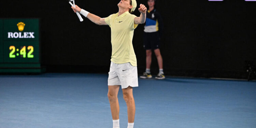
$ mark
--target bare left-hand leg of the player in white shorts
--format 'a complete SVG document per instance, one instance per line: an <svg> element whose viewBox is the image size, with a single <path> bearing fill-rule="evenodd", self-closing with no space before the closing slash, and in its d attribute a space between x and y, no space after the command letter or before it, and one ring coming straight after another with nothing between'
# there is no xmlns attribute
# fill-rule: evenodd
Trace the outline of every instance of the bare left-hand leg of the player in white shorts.
<svg viewBox="0 0 256 128"><path fill-rule="evenodd" d="M113 120L119 119L119 103L117 98L118 90L119 85L109 86L108 98Z"/></svg>

